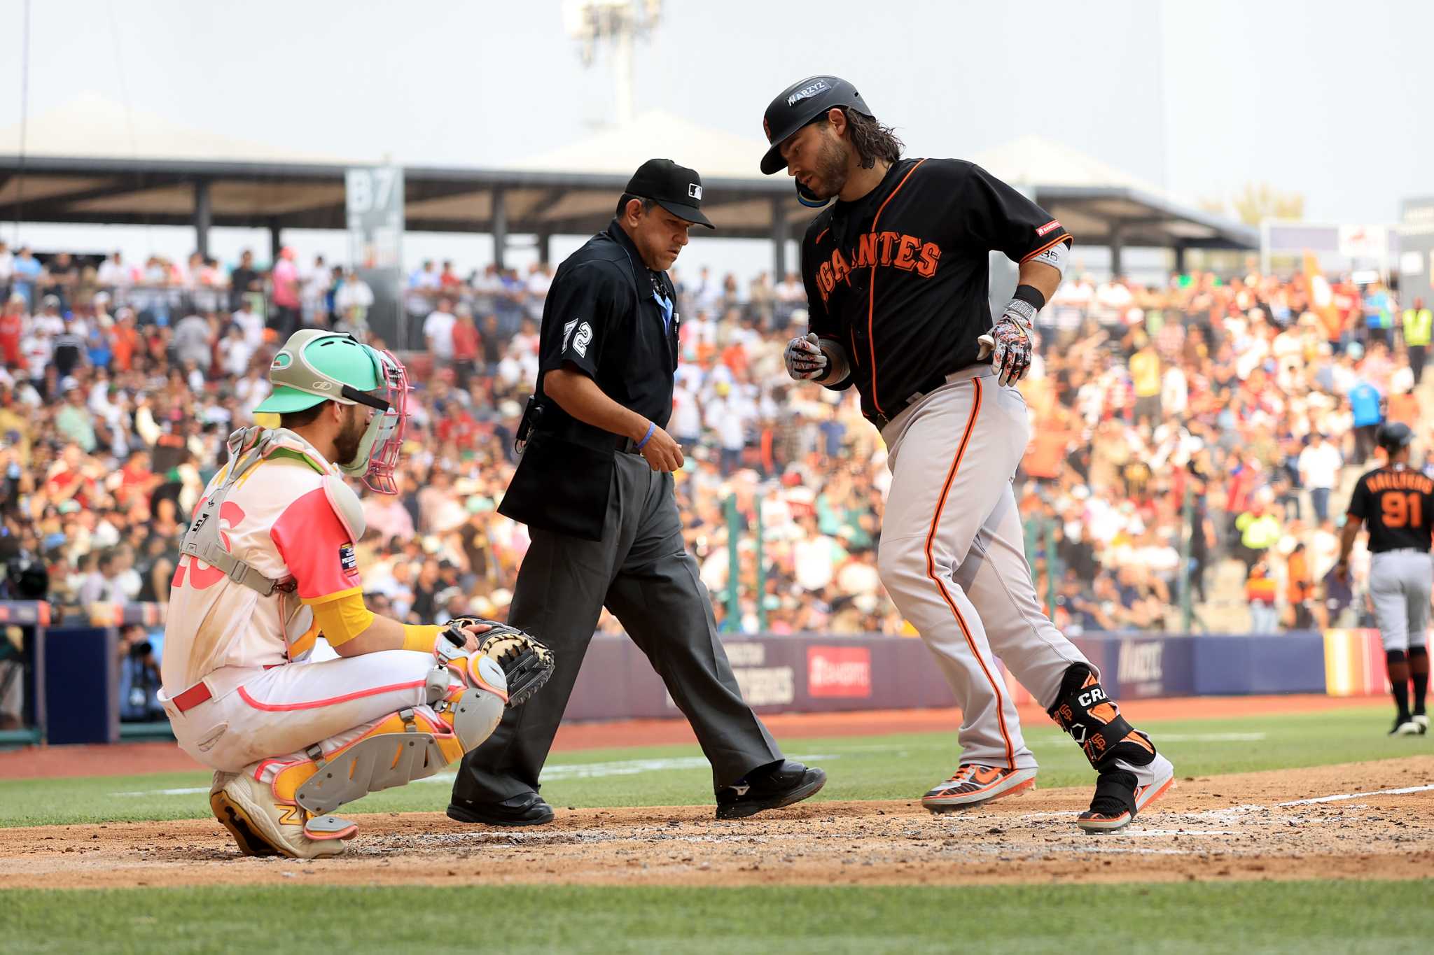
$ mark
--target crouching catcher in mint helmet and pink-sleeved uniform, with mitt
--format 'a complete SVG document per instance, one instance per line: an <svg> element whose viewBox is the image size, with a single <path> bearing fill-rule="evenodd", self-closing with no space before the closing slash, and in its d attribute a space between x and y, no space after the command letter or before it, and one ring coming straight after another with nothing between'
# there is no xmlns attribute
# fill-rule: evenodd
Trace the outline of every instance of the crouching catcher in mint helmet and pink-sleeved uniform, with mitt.
<svg viewBox="0 0 1434 955"><path fill-rule="evenodd" d="M270 379L258 411L282 427L229 437L181 544L159 699L179 747L217 770L209 805L239 849L311 859L357 830L334 809L482 743L552 659L500 624L364 607L363 510L343 475L396 491L407 381L393 355L304 329ZM338 659L310 661L320 636Z"/></svg>

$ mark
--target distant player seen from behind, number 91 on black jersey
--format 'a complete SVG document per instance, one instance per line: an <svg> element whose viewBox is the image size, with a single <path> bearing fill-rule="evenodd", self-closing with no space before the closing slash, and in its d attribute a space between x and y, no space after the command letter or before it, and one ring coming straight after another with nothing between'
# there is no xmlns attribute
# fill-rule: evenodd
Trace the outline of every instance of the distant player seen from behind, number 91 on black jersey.
<svg viewBox="0 0 1434 955"><path fill-rule="evenodd" d="M1394 693L1394 729L1390 736L1427 733L1430 717L1424 713L1424 693L1430 682L1428 620L1430 531L1434 528L1434 480L1410 467L1410 425L1387 422L1375 432L1375 442L1388 454L1388 462L1359 477L1349 498L1344 534L1339 537L1339 561L1335 574L1349 580L1349 550L1359 528L1369 527L1369 598L1374 619L1384 639L1384 660L1390 667ZM1414 709L1410 710L1410 689Z"/></svg>

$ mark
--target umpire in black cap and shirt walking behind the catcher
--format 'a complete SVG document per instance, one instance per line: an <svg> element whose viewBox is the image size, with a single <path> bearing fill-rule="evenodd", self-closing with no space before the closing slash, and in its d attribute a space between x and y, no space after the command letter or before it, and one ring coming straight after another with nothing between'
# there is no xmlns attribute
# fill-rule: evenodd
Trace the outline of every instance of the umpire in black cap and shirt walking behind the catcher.
<svg viewBox="0 0 1434 955"><path fill-rule="evenodd" d="M569 256L543 305L536 394L519 424L522 458L499 513L528 524L509 623L541 634L558 669L463 760L447 815L536 826L552 820L538 775L602 607L663 677L713 766L717 818L812 796L820 769L784 760L743 702L711 603L687 553L673 471L678 315L665 269L701 212L697 172L650 159L617 215Z"/></svg>

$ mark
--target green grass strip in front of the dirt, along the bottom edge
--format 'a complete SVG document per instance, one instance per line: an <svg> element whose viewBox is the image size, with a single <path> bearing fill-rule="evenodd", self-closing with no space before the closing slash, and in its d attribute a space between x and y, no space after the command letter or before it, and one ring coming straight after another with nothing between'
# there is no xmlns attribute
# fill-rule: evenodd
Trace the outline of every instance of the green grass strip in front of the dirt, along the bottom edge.
<svg viewBox="0 0 1434 955"><path fill-rule="evenodd" d="M0 892L22 952L1428 951L1434 882ZM440 902L446 896L446 902ZM356 911L363 918L353 918Z"/></svg>

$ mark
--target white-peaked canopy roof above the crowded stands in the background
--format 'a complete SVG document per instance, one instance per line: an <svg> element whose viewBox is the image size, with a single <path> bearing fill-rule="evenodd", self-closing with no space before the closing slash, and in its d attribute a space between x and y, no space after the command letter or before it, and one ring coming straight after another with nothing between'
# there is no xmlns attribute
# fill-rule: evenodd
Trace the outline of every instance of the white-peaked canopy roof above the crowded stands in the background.
<svg viewBox="0 0 1434 955"><path fill-rule="evenodd" d="M201 251L209 226L344 229L344 170L373 165L186 129L83 96L0 130L0 219L194 226ZM764 145L661 112L597 132L503 169L404 166L409 231L506 236L602 229L628 176L670 156L703 173L703 208L717 238L774 241L782 272L786 238L809 213L786 176L763 176ZM1252 229L1180 205L1162 190L1037 137L972 157L1027 186L1077 242L1163 248L1258 248ZM22 175L23 172L23 175Z"/></svg>

